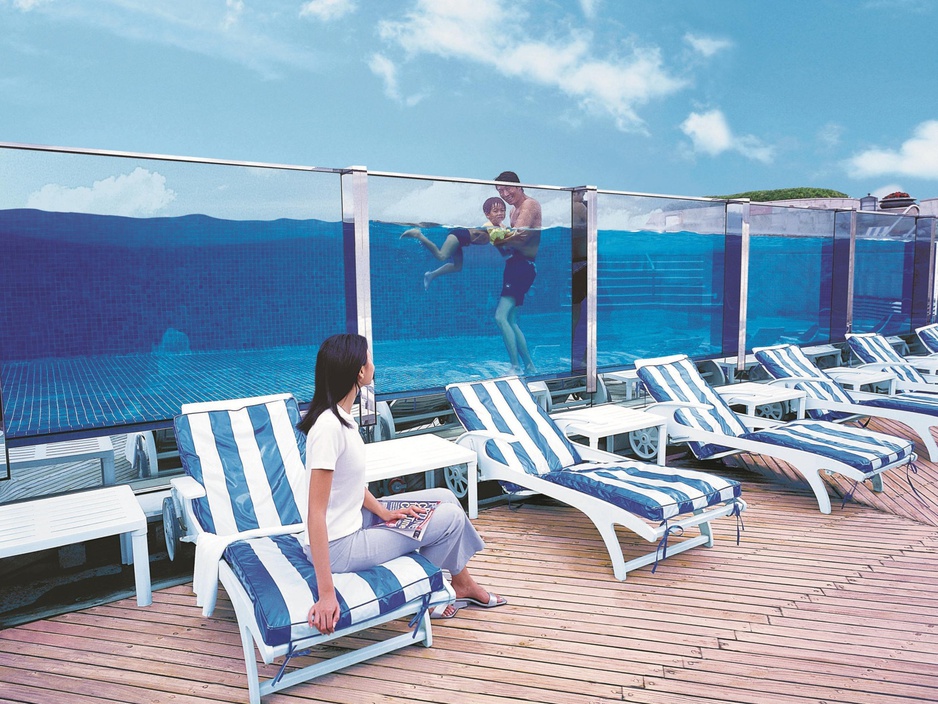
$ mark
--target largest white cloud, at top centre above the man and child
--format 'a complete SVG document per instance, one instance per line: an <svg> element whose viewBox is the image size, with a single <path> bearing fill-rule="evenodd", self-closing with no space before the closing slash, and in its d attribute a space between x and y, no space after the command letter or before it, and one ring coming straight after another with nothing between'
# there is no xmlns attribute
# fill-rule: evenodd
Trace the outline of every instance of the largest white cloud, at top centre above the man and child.
<svg viewBox="0 0 938 704"><path fill-rule="evenodd" d="M587 32L537 41L510 31L530 32L526 19L517 5L506 8L500 0L418 0L403 20L381 22L379 33L410 55L470 61L559 90L582 108L611 117L622 130L642 130L637 108L686 85L665 70L656 47L634 47L624 58L597 58Z"/></svg>

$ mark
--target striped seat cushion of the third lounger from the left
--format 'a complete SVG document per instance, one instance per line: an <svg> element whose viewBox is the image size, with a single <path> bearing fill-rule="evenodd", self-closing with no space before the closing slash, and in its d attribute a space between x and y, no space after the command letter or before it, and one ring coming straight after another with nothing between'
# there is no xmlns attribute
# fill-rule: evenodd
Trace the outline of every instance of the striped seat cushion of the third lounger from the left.
<svg viewBox="0 0 938 704"><path fill-rule="evenodd" d="M824 421L796 420L744 437L838 460L865 474L912 454L908 440Z"/></svg>

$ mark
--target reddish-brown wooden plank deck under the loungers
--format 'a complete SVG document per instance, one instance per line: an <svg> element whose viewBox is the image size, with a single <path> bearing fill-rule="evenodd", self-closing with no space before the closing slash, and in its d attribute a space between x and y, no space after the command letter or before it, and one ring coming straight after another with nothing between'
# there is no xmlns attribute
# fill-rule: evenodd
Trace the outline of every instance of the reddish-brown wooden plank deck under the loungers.
<svg viewBox="0 0 938 704"><path fill-rule="evenodd" d="M472 565L508 606L464 609L434 622L432 648L265 701L938 701L938 528L859 503L823 516L803 489L723 473L745 485L741 543L724 519L714 548L625 582L579 512L547 502L484 510L476 525L488 547ZM627 556L648 549L620 537ZM204 619L189 585L156 592L149 608L125 599L0 631L3 702L243 702L243 668L227 599Z"/></svg>

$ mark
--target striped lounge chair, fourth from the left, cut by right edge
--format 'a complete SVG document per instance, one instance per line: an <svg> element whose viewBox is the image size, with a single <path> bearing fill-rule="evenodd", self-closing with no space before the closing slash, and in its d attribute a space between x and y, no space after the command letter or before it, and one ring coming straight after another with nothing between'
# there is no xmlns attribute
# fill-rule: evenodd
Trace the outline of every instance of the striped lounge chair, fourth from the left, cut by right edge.
<svg viewBox="0 0 938 704"><path fill-rule="evenodd" d="M807 394L805 409L811 418L834 422L857 417L886 418L909 426L928 450L928 459L938 461L938 445L931 429L938 427L938 396L903 393L894 396L847 391L819 369L798 347L778 345L756 350L763 367L790 388Z"/></svg>

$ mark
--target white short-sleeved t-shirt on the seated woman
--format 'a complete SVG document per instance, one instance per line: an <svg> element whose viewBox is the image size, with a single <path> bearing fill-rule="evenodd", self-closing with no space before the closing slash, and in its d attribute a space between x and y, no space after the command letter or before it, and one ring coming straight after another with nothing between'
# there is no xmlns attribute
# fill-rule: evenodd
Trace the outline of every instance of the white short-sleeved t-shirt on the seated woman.
<svg viewBox="0 0 938 704"><path fill-rule="evenodd" d="M365 501L365 442L355 419L342 408L338 411L351 428L327 410L316 419L306 439L306 468L333 472L326 509L330 542L361 529Z"/></svg>

